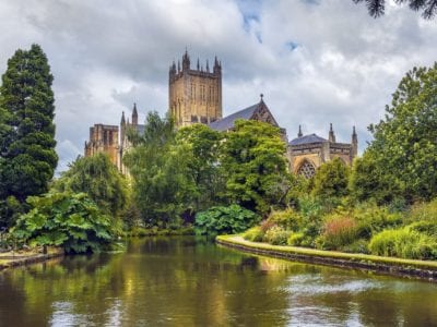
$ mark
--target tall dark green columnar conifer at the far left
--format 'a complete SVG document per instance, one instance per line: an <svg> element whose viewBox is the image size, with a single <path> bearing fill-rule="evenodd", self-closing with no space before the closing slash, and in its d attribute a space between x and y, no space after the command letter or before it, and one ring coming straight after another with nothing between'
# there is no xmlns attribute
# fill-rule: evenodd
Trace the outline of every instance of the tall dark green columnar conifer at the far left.
<svg viewBox="0 0 437 327"><path fill-rule="evenodd" d="M16 50L0 87L0 194L21 203L48 190L58 162L55 152L52 75L42 48Z"/></svg>

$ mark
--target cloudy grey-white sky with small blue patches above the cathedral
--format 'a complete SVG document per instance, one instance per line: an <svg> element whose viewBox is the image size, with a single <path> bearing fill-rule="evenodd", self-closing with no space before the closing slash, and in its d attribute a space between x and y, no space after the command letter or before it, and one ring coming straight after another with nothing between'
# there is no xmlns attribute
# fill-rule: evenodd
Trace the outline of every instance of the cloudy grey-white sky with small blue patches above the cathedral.
<svg viewBox="0 0 437 327"><path fill-rule="evenodd" d="M168 108L168 68L186 49L223 68L223 114L260 99L296 137L350 142L362 153L402 76L437 60L437 19L389 0L368 15L352 0L4 0L0 72L19 48L39 44L55 76L58 171L83 154L95 123L140 121Z"/></svg>

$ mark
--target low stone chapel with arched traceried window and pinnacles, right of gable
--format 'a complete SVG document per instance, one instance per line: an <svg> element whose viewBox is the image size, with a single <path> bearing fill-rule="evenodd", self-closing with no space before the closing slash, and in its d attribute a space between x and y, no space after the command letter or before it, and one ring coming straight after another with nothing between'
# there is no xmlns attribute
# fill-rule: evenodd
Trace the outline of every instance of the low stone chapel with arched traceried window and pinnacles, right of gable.
<svg viewBox="0 0 437 327"><path fill-rule="evenodd" d="M355 126L352 132L351 143L338 143L335 134L330 126L328 140L316 134L303 135L302 128L297 138L288 143L288 160L291 170L295 174L310 178L316 169L323 162L340 158L345 165L352 165L358 152L358 138Z"/></svg>

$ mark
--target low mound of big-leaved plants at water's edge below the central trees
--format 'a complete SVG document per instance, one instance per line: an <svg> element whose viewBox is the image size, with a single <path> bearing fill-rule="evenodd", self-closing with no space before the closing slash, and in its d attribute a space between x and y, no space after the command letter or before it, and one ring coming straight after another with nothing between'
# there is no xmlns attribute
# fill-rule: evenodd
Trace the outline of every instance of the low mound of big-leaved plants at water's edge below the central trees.
<svg viewBox="0 0 437 327"><path fill-rule="evenodd" d="M260 221L260 217L233 204L228 207L217 206L196 215L196 230L200 234L240 233Z"/></svg>

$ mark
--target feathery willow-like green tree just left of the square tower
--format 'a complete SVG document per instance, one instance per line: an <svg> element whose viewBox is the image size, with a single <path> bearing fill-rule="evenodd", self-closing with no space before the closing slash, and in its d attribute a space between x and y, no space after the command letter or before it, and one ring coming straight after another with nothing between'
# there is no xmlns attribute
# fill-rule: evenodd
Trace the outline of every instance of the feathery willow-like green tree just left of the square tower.
<svg viewBox="0 0 437 327"><path fill-rule="evenodd" d="M150 112L144 134L130 132L133 147L125 156L132 177L133 197L146 226L179 223L194 184L187 177L188 145L176 145L174 122Z"/></svg>

